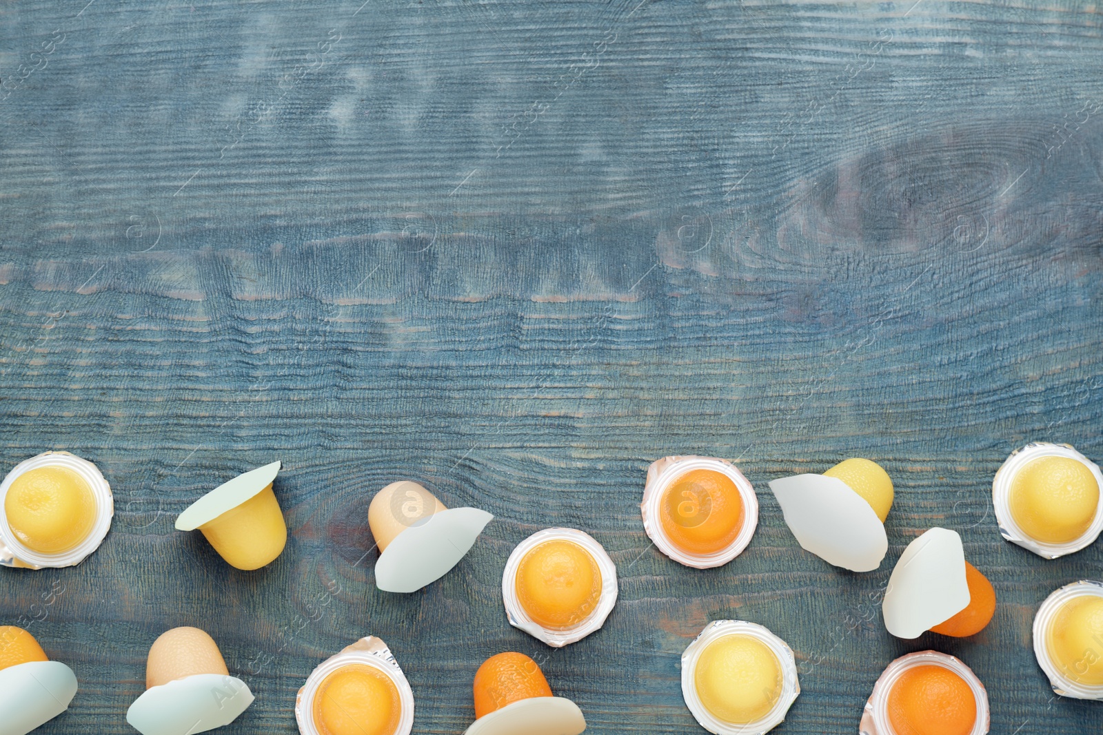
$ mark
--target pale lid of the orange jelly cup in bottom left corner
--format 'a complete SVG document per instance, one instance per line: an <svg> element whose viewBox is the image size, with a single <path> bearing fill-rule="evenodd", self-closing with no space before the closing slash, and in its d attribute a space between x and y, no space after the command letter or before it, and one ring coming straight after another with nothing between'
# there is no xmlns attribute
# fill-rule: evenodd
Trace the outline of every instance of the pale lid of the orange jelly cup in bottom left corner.
<svg viewBox="0 0 1103 735"><path fill-rule="evenodd" d="M26 735L68 709L76 674L60 661L29 661L0 670L0 735Z"/></svg>

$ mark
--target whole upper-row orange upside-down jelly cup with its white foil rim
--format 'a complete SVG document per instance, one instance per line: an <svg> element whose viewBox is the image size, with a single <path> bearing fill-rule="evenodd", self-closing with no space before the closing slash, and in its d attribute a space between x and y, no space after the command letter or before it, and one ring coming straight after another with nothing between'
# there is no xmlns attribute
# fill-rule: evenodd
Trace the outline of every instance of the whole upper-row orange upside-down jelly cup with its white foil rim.
<svg viewBox="0 0 1103 735"><path fill-rule="evenodd" d="M655 547L695 569L727 564L742 553L758 528L753 486L733 464L716 457L653 462L640 511Z"/></svg>

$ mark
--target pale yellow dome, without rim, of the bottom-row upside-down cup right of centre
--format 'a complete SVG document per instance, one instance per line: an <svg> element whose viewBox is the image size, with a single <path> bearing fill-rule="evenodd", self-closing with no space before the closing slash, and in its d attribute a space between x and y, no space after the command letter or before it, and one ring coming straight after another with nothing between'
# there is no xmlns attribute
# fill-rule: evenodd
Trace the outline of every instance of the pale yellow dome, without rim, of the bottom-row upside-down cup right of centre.
<svg viewBox="0 0 1103 735"><path fill-rule="evenodd" d="M714 716L746 725L769 714L781 698L781 663L756 638L724 636L702 651L694 684L702 704Z"/></svg>

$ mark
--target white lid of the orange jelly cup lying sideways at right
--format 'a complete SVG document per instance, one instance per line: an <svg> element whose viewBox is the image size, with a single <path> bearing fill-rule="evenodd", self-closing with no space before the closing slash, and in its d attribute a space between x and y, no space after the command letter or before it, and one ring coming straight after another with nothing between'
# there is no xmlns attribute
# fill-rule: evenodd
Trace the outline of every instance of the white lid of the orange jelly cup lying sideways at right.
<svg viewBox="0 0 1103 735"><path fill-rule="evenodd" d="M908 544L889 577L881 612L897 638L918 638L968 606L965 550L956 531L932 528Z"/></svg>

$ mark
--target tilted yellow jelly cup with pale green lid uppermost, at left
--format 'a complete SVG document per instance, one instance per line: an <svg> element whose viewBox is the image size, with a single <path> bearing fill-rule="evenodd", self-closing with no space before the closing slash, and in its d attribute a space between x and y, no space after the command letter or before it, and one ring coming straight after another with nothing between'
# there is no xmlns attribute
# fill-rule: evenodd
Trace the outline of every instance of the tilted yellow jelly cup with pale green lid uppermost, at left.
<svg viewBox="0 0 1103 735"><path fill-rule="evenodd" d="M272 462L219 485L176 518L176 529L203 532L231 566L260 569L287 545L287 522L272 491Z"/></svg>

